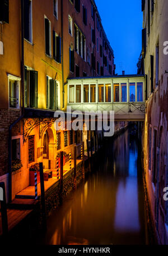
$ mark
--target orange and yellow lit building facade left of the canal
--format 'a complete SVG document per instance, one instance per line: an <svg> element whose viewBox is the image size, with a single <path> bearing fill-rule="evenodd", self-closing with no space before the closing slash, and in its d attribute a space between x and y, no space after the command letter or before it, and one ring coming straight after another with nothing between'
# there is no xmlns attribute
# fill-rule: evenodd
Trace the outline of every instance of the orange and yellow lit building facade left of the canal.
<svg viewBox="0 0 168 256"><path fill-rule="evenodd" d="M54 129L67 79L114 75L115 65L95 1L4 0L0 10L0 180L11 201L32 165L55 168L60 150L82 143L82 132Z"/></svg>

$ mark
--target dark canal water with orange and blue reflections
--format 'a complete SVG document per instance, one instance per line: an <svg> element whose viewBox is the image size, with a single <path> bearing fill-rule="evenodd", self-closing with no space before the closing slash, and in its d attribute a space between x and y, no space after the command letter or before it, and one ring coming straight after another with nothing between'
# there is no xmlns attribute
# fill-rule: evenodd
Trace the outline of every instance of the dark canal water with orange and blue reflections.
<svg viewBox="0 0 168 256"><path fill-rule="evenodd" d="M48 219L40 244L148 244L141 159L127 130Z"/></svg>

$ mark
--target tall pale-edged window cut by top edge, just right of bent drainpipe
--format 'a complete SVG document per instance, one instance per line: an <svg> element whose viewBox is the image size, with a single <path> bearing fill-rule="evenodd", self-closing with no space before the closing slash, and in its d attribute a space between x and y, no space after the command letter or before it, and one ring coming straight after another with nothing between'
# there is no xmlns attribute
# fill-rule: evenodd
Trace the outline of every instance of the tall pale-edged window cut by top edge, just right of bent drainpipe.
<svg viewBox="0 0 168 256"><path fill-rule="evenodd" d="M24 38L32 43L32 2L24 0Z"/></svg>

